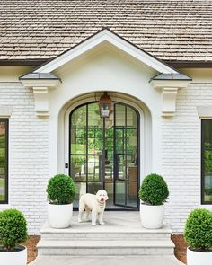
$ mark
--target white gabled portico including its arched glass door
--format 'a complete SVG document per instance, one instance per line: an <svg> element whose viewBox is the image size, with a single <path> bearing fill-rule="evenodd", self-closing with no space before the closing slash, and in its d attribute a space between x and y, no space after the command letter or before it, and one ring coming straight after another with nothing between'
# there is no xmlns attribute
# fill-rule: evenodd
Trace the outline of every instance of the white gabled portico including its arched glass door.
<svg viewBox="0 0 212 265"><path fill-rule="evenodd" d="M49 175L74 178L76 208L82 190L105 189L112 208L138 209L140 182L161 172L162 116L174 115L178 90L190 77L102 29L20 80L33 90L38 119L49 117ZM113 109L98 123L105 92Z"/></svg>

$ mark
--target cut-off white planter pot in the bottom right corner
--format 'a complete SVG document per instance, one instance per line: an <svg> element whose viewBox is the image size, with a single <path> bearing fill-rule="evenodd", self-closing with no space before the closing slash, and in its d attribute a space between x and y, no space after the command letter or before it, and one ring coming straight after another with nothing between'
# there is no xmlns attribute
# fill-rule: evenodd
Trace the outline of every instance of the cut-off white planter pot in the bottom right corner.
<svg viewBox="0 0 212 265"><path fill-rule="evenodd" d="M212 252L194 252L187 248L187 265L211 265Z"/></svg>

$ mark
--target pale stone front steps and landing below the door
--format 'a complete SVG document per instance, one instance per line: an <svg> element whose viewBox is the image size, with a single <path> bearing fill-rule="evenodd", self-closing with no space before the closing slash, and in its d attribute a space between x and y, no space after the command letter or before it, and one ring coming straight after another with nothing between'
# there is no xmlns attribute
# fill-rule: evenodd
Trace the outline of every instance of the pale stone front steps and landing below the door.
<svg viewBox="0 0 212 265"><path fill-rule="evenodd" d="M173 255L171 230L149 230L141 226L138 212L106 212L107 225L78 224L76 213L71 227L41 229L41 256L141 256Z"/></svg>

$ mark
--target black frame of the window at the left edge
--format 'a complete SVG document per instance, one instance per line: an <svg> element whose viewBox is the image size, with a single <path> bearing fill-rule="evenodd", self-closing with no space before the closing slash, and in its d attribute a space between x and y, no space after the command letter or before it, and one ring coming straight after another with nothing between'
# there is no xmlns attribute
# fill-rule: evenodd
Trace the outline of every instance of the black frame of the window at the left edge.
<svg viewBox="0 0 212 265"><path fill-rule="evenodd" d="M0 118L0 122L5 123L5 161L6 161L6 166L5 166L5 183L4 183L4 188L5 188L5 199L0 200L0 205L1 204L8 204L9 200L9 119L6 118Z"/></svg>

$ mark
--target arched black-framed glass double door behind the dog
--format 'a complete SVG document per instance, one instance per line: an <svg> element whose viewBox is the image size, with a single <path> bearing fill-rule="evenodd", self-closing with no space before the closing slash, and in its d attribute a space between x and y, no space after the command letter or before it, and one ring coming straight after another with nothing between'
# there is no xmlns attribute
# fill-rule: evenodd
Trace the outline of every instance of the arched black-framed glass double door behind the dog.
<svg viewBox="0 0 212 265"><path fill-rule="evenodd" d="M127 104L113 102L110 118L101 118L98 102L70 113L69 174L78 198L85 192L107 190L107 208L138 209L139 114Z"/></svg>

